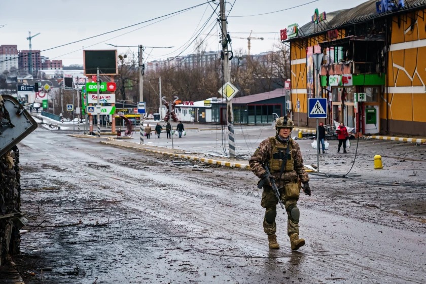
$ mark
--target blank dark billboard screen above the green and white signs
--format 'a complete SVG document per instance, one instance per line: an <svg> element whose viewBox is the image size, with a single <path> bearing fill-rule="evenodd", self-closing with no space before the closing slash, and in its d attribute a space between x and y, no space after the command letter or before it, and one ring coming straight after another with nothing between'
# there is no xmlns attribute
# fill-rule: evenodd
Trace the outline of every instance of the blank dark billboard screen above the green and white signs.
<svg viewBox="0 0 426 284"><path fill-rule="evenodd" d="M117 50L83 50L84 75L117 75Z"/></svg>

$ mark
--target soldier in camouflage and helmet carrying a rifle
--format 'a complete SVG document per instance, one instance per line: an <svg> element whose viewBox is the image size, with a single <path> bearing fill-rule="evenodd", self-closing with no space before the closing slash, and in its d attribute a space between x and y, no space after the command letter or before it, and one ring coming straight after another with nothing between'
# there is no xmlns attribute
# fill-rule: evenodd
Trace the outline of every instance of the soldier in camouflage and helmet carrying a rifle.
<svg viewBox="0 0 426 284"><path fill-rule="evenodd" d="M305 244L304 239L299 239L299 179L304 185L305 194L311 195L309 176L303 166L302 153L299 145L291 138L294 127L293 121L287 117L276 120L276 135L263 140L250 158L251 170L264 182L261 206L264 207L265 217L263 230L268 235L269 248L278 249L276 241L276 204L278 200L271 187L270 178L275 179L280 197L287 211L287 233L290 237L292 250L298 250ZM269 175L264 164L269 164ZM259 181L259 182L261 182Z"/></svg>

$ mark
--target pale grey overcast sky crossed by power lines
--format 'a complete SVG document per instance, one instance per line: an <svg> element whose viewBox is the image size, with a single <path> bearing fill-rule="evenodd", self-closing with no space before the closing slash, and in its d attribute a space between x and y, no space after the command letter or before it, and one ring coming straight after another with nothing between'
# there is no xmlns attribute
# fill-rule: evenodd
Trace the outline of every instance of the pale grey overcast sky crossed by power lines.
<svg viewBox="0 0 426 284"><path fill-rule="evenodd" d="M366 0L229 0L226 8L232 48L246 52L247 40L238 37L247 38L253 30L252 37L263 37L264 40L251 40L251 54L270 51L274 41L279 40L280 29L293 23L303 26L310 21L315 8L327 13L356 7L364 2ZM210 16L219 0L210 2L210 5L205 3L206 0L1 0L0 27L4 26L0 28L0 45L18 45L18 50L27 50L28 31L31 35L40 32L31 40L32 50L42 50L42 56L49 59L62 59L64 65L82 65L83 47L137 54L136 47L114 48L105 43L118 46L173 46L169 49L146 48L144 61L191 54L194 44L190 43L193 35L198 33L201 39L205 39L206 51L217 51L221 49L218 43L219 26L215 24L218 15ZM203 5L150 21L200 4ZM300 7L289 9L295 6ZM270 13L283 9L288 10ZM219 14L219 8L216 11ZM250 16L264 13L269 14ZM138 24L145 21L148 22ZM134 26L125 28L129 25ZM116 29L120 30L84 40ZM207 33L210 36L206 36ZM69 44L76 41L80 42ZM60 45L66 46L54 48Z"/></svg>

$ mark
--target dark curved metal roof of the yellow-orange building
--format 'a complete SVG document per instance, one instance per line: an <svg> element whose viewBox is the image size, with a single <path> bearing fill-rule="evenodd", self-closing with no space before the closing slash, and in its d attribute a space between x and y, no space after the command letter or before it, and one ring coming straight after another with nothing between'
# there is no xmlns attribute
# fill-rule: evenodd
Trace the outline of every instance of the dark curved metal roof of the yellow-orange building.
<svg viewBox="0 0 426 284"><path fill-rule="evenodd" d="M305 38L308 35L316 33L324 33L327 30L340 28L348 24L365 22L388 15L396 15L407 10L419 10L421 8L426 8L426 0L405 0L405 7L398 11L388 11L378 14L376 12L376 2L377 0L369 0L354 8L327 13L326 21L321 24L309 22L303 25L299 28L299 35L295 38L289 39L288 41Z"/></svg>

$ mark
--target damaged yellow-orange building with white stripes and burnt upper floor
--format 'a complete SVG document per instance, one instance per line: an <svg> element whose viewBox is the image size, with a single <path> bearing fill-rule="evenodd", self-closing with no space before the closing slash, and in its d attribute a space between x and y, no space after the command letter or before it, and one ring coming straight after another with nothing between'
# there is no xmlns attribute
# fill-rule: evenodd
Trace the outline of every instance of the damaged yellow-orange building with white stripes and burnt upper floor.
<svg viewBox="0 0 426 284"><path fill-rule="evenodd" d="M312 22L281 30L290 44L296 125L315 126L308 98L326 97L326 124L426 136L425 12L426 0L370 0L312 11Z"/></svg>

